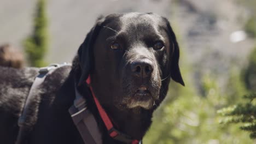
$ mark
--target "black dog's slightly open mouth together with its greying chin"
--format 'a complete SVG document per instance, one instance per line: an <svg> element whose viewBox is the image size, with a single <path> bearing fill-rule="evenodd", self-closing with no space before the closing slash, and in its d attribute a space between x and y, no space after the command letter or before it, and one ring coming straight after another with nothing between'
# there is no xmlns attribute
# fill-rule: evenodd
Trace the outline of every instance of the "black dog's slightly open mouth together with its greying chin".
<svg viewBox="0 0 256 144"><path fill-rule="evenodd" d="M155 100L152 97L149 89L146 86L140 86L135 93L131 96L130 100L127 103L129 109L135 107L142 107L144 109L152 109L155 104Z"/></svg>

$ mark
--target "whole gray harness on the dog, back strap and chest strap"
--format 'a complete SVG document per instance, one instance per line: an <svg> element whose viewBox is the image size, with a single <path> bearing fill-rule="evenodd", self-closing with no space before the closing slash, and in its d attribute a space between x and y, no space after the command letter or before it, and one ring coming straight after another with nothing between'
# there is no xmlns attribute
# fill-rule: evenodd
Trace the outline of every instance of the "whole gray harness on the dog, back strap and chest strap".
<svg viewBox="0 0 256 144"><path fill-rule="evenodd" d="M28 113L30 115L37 115L37 110L30 109L30 107L33 107L33 99L37 97L37 95L34 95L34 92L38 91L38 88L43 84L46 76L53 73L57 68L65 65L71 64L51 64L49 67L39 69L39 75L37 75L31 86L21 116L18 119L18 125L20 128L15 144L27 143L27 137L31 131L31 124L28 125L28 123L32 123L32 125L36 123L32 122L28 117ZM88 110L86 99L84 99L84 97L77 91L77 86L75 86L74 105L72 105L68 111L85 144L102 144L102 134L98 128L96 119L90 110ZM114 139L120 139L120 141L125 143L131 143L131 141L126 139L126 136L121 133L119 133L117 137L114 137ZM139 141L138 144L142 144L142 141Z"/></svg>

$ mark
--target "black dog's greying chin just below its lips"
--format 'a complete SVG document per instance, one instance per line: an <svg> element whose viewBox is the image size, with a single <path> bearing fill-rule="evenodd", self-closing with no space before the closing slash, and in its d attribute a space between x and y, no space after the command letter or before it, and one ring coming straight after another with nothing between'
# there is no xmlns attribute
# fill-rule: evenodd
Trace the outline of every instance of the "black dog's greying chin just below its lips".
<svg viewBox="0 0 256 144"><path fill-rule="evenodd" d="M141 107L146 110L153 108L155 101L152 95L148 92L136 92L128 101L127 107L129 109L135 109Z"/></svg>

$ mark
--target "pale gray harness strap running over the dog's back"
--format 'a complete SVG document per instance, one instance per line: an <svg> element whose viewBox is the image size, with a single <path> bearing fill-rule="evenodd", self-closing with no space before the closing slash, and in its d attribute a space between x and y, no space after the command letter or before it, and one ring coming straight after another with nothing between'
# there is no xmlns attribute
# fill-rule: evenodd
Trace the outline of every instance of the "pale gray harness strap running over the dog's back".
<svg viewBox="0 0 256 144"><path fill-rule="evenodd" d="M36 123L36 121L31 122L32 120L28 117L28 114L37 115L38 110L31 109L31 107L34 107L33 100L37 97L35 93L37 93L38 88L42 85L47 75L53 73L56 68L60 68L65 65L70 64L51 64L49 67L43 67L39 69L39 75L37 75L37 77L34 79L34 82L30 88L30 92L28 93L25 104L23 106L21 116L18 119L18 126L20 128L15 144L26 143L28 132L31 130L30 126Z"/></svg>

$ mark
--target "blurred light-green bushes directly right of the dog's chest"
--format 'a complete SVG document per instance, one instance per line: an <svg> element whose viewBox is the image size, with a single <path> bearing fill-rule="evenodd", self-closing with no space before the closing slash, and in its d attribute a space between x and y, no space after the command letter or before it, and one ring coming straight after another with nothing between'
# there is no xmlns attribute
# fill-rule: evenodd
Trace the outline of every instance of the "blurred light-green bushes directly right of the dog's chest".
<svg viewBox="0 0 256 144"><path fill-rule="evenodd" d="M189 79L189 74L193 73L189 65L184 61L181 65L186 87L170 83L167 99L154 113L153 125L144 142L252 143L247 134L241 133L237 127L220 125L217 113L222 107L240 101L240 94L246 93L240 71L236 68L230 71L229 82L225 88L218 85L217 77L205 74L202 78L201 94Z"/></svg>

